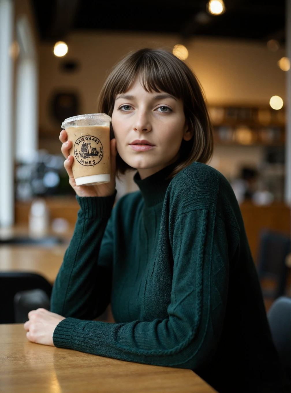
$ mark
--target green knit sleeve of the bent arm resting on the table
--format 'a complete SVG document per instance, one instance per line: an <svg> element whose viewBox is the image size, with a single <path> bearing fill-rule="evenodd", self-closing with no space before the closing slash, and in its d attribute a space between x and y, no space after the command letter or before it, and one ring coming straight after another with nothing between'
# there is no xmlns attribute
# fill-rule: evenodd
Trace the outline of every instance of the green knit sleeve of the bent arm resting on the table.
<svg viewBox="0 0 291 393"><path fill-rule="evenodd" d="M229 255L223 220L192 210L176 220L168 317L106 323L74 318L55 328L57 347L131 362L195 369L214 354L227 301Z"/></svg>

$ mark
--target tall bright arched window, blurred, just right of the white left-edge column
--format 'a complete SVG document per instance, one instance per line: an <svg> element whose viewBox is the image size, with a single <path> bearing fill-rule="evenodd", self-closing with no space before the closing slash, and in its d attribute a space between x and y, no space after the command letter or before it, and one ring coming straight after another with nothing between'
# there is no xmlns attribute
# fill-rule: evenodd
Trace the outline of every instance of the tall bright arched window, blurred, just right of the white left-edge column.
<svg viewBox="0 0 291 393"><path fill-rule="evenodd" d="M20 53L16 64L16 162L30 162L38 149L38 68L26 15L16 20Z"/></svg>

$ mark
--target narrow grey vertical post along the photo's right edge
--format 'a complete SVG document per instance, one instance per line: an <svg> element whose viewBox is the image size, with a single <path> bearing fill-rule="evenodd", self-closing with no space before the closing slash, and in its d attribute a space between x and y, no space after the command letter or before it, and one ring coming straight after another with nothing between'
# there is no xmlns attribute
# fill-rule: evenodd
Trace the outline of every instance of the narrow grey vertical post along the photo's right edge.
<svg viewBox="0 0 291 393"><path fill-rule="evenodd" d="M286 1L286 57L291 61L291 0ZM285 203L291 205L291 69L286 72Z"/></svg>

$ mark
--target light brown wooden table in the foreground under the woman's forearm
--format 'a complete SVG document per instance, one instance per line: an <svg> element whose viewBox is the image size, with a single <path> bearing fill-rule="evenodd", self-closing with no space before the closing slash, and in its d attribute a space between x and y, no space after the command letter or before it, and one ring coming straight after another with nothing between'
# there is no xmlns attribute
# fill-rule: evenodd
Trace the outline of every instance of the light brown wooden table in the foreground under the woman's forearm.
<svg viewBox="0 0 291 393"><path fill-rule="evenodd" d="M191 370L31 343L23 324L0 325L0 348L1 393L215 392Z"/></svg>

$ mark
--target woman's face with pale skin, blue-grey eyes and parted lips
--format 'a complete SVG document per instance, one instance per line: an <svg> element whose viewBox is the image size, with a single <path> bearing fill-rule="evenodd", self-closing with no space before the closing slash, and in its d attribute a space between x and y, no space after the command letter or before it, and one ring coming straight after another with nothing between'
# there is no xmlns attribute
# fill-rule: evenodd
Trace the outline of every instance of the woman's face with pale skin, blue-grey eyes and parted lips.
<svg viewBox="0 0 291 393"><path fill-rule="evenodd" d="M139 171L141 179L175 162L182 139L192 138L182 100L165 92L148 93L139 79L117 95L112 127L119 155Z"/></svg>

